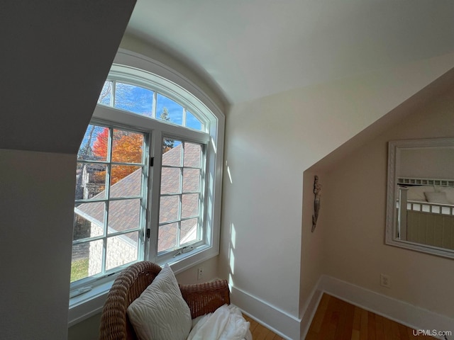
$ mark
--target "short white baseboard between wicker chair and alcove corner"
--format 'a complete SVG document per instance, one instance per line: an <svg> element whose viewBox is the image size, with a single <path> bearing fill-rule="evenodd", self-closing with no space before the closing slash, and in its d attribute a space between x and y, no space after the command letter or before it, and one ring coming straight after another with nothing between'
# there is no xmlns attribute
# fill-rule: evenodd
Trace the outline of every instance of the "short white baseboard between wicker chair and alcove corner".
<svg viewBox="0 0 454 340"><path fill-rule="evenodd" d="M279 310L269 302L231 286L231 302L257 322L284 339L299 339L301 319Z"/></svg>

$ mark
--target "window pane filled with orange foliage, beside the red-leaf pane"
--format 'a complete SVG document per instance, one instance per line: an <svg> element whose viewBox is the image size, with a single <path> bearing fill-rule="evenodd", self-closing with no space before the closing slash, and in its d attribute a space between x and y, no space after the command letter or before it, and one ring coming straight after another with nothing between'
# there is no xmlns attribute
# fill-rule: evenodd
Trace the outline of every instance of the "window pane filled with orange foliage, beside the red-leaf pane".
<svg viewBox="0 0 454 340"><path fill-rule="evenodd" d="M114 129L112 142L112 162L143 162L143 134Z"/></svg>

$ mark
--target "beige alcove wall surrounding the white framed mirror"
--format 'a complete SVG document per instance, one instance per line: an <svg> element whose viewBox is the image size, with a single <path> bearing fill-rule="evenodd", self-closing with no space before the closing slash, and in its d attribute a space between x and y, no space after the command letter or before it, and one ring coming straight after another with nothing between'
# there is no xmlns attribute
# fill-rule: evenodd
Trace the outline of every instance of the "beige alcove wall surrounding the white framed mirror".
<svg viewBox="0 0 454 340"><path fill-rule="evenodd" d="M323 271L454 317L453 260L384 244L389 140L454 136L454 88L323 174ZM380 286L380 273L391 288Z"/></svg>

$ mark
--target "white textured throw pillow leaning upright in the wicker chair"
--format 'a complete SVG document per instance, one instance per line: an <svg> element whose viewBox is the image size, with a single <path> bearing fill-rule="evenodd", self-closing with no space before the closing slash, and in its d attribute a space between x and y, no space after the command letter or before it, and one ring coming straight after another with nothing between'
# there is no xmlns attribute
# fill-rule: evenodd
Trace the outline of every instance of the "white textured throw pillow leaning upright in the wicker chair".
<svg viewBox="0 0 454 340"><path fill-rule="evenodd" d="M185 340L191 331L191 311L167 264L127 312L140 340Z"/></svg>

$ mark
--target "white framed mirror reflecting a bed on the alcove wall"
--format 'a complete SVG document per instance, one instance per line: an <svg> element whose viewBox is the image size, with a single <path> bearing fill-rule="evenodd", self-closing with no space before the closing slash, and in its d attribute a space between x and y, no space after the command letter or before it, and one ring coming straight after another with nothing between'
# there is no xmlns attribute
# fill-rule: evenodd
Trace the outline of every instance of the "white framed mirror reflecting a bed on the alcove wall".
<svg viewBox="0 0 454 340"><path fill-rule="evenodd" d="M389 142L385 243L454 259L454 138Z"/></svg>

